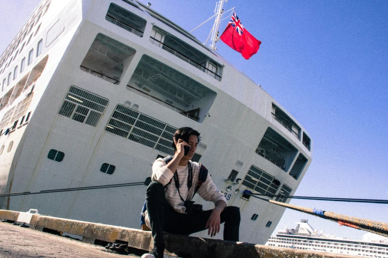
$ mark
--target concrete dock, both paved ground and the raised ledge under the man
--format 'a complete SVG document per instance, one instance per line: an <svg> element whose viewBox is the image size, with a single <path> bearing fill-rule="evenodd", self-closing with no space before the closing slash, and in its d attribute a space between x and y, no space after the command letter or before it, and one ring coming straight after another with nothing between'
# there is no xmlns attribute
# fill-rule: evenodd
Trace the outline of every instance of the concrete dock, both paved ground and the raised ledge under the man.
<svg viewBox="0 0 388 258"><path fill-rule="evenodd" d="M142 253L146 253L153 247L150 231L5 210L0 210L0 219L6 219L8 222L16 221L19 224L26 223L30 227L20 228L10 223L0 222L0 258L122 257L122 255L108 253L103 246L93 245L99 243L125 243L131 251L140 250ZM82 242L39 231L62 236L72 234L82 239ZM165 255L181 258L354 257L172 234L165 234L165 242Z"/></svg>

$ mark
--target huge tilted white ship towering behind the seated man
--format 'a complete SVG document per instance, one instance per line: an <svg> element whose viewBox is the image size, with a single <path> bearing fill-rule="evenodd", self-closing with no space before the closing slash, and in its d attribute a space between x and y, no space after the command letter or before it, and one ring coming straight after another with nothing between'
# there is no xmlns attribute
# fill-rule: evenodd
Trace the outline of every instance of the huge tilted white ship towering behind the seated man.
<svg viewBox="0 0 388 258"><path fill-rule="evenodd" d="M193 160L241 209L240 240L264 244L285 208L244 191L292 195L312 161L308 132L261 86L135 0L43 0L1 55L0 87L1 194L143 182L188 126L202 134ZM145 191L0 197L0 209L139 228Z"/></svg>

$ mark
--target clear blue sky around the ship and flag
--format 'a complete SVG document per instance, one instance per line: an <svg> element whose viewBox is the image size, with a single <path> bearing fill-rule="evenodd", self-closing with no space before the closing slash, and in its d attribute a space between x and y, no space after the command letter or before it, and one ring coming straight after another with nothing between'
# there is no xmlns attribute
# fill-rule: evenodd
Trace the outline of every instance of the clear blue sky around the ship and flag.
<svg viewBox="0 0 388 258"><path fill-rule="evenodd" d="M0 52L39 2L2 3ZM190 31L214 14L216 1L151 3ZM314 141L313 162L295 195L387 200L388 1L229 0L224 9L232 7L262 44L249 60L222 42L218 52L272 95ZM205 42L211 27L209 22L193 34ZM388 222L383 204L291 204ZM365 233L294 211L284 213L276 230L301 218L337 236Z"/></svg>

